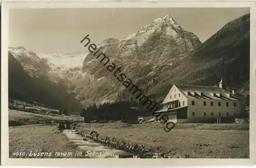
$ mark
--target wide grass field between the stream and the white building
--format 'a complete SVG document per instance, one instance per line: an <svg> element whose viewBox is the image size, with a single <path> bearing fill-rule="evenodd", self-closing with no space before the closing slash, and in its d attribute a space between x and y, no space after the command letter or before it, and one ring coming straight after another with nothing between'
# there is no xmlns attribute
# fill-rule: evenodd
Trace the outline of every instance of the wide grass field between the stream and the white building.
<svg viewBox="0 0 256 168"><path fill-rule="evenodd" d="M161 124L131 125L125 123L82 124L79 129L91 129L126 143L145 144L179 153L189 158L249 158L248 125L178 124L165 132ZM185 129L182 129L185 128ZM212 130L212 128L214 128ZM217 129L219 128L219 130ZM226 130L232 128L230 130ZM238 130L234 130L234 129ZM245 130L239 130L239 129Z"/></svg>

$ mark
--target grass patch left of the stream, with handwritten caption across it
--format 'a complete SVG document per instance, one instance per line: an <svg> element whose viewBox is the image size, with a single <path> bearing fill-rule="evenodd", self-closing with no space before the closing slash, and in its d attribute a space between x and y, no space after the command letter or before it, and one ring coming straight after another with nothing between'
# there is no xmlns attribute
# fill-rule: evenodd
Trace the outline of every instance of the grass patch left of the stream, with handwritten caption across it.
<svg viewBox="0 0 256 168"><path fill-rule="evenodd" d="M48 156L29 156L32 153L46 152ZM68 142L68 138L59 133L56 126L27 125L9 127L9 157L10 158L79 158L74 156L76 151L81 151L77 146ZM13 153L20 155L14 156ZM49 153L52 155L49 156ZM72 152L73 156L54 156L55 152ZM27 156L26 156L27 155ZM84 157L84 156L83 156Z"/></svg>

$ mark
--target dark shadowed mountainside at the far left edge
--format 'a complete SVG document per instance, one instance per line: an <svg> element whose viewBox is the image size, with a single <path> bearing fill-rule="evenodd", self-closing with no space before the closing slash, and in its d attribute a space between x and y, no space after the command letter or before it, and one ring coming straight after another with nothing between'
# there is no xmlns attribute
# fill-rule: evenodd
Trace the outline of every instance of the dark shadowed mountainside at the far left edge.
<svg viewBox="0 0 256 168"><path fill-rule="evenodd" d="M29 60L28 58L25 60ZM66 93L66 86L57 85L47 76L40 75L42 72L38 67L33 67L36 69L35 71L26 69L26 67L32 67L30 65L33 65L34 62L30 63L21 64L11 52L8 53L9 98L26 102L36 101L49 108L66 109L69 114L79 114L82 108L81 104L74 98L74 95Z"/></svg>

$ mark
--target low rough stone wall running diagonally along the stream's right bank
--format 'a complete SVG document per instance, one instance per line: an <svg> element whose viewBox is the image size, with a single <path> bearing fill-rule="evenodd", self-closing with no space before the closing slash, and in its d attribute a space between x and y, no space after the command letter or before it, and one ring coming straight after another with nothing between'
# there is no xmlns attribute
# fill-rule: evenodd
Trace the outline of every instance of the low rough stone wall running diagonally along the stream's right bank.
<svg viewBox="0 0 256 168"><path fill-rule="evenodd" d="M95 142L104 144L115 149L123 150L126 152L134 153L138 158L188 158L188 156L181 156L180 153L175 151L164 151L161 148L155 148L151 146L145 146L143 144L125 143L120 142L115 138L101 136L96 131L92 130L76 130L77 134L82 137L91 138Z"/></svg>

